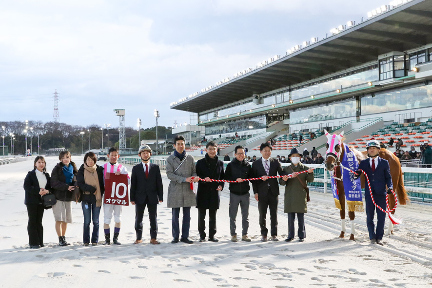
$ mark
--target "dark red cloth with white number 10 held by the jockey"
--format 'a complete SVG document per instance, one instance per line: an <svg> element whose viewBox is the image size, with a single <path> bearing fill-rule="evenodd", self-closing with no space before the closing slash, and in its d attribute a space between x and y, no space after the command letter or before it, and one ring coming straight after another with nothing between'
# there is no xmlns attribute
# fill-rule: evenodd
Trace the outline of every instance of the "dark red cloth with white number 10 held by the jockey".
<svg viewBox="0 0 432 288"><path fill-rule="evenodd" d="M129 187L126 174L106 173L103 203L129 206Z"/></svg>

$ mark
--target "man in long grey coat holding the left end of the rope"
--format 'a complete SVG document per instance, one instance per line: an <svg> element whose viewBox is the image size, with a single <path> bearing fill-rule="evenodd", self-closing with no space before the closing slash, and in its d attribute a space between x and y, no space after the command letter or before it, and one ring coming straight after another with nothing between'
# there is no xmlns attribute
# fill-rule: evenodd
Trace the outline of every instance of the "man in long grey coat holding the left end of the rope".
<svg viewBox="0 0 432 288"><path fill-rule="evenodd" d="M188 239L191 222L191 207L196 206L195 193L191 190L191 183L199 181L196 176L195 159L186 154L184 150L185 141L183 136L174 138L176 151L167 158L166 174L171 180L168 186L167 207L172 208L171 223L173 226L173 241L177 243L180 236L180 224L178 218L180 208L183 207L183 222L181 225L180 241L192 244ZM195 178L194 178L195 177ZM194 178L194 179L193 179Z"/></svg>

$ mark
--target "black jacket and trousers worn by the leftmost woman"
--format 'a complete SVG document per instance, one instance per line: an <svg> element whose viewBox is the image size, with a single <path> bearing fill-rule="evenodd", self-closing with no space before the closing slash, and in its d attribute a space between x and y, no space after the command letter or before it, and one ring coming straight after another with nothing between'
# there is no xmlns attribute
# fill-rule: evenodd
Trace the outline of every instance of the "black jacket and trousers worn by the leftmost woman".
<svg viewBox="0 0 432 288"><path fill-rule="evenodd" d="M45 189L52 192L50 184L50 175L44 173L46 177ZM24 204L27 206L28 214L28 244L30 246L41 245L43 246L43 226L42 217L44 206L42 204L42 196L40 196L39 191L39 181L36 176L36 171L30 171L27 173L24 179L24 191L25 199Z"/></svg>

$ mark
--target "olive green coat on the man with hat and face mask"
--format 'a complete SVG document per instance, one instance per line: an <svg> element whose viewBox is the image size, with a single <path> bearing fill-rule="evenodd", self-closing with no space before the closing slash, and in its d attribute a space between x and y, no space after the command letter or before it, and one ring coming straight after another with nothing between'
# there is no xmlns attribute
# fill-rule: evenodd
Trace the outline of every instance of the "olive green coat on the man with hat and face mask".
<svg viewBox="0 0 432 288"><path fill-rule="evenodd" d="M292 167L292 168L291 168ZM302 163L298 163L297 166L291 164L290 166L286 166L283 169L287 175L292 174L294 172L302 172L308 170L309 167L303 165ZM298 179L297 179L298 178ZM308 205L306 204L306 191L303 188L303 185L300 183L301 180L304 184L307 182L314 181L314 173L302 173L299 174L295 178L288 179L286 182L279 178L279 184L285 185L285 194L284 194L284 209L285 213L307 213Z"/></svg>

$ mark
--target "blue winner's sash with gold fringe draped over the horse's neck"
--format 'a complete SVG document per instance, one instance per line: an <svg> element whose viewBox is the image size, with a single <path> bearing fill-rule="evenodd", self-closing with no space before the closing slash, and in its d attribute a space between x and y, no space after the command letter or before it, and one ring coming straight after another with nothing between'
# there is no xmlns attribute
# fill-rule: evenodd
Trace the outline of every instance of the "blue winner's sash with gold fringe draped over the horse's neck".
<svg viewBox="0 0 432 288"><path fill-rule="evenodd" d="M357 158L345 143L342 144L344 145L345 153L342 156L341 164L345 167L350 168L353 171L356 171L358 168ZM341 171L341 173L342 173L341 178L343 181L345 198L347 200L347 205L348 205L348 211L364 211L362 195L361 195L360 178L354 179L353 173L349 173L349 177L343 177L343 170ZM339 191L337 190L337 184L336 184L337 178L335 177L336 174L334 173L332 175L333 178L332 191L334 197L334 204L336 205L336 208L341 209L341 205L339 202Z"/></svg>

